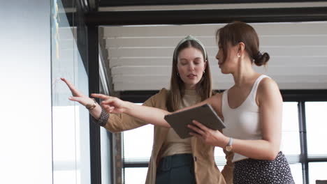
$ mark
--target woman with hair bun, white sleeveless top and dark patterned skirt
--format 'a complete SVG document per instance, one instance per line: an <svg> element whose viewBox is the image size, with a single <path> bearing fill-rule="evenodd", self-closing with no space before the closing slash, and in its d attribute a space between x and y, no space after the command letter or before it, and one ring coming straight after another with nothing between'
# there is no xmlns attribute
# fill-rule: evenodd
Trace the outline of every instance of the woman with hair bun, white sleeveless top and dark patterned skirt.
<svg viewBox="0 0 327 184"><path fill-rule="evenodd" d="M253 63L265 65L269 54L259 51L256 31L244 22L227 24L217 31L216 38L219 68L222 73L233 75L235 84L224 93L184 109L210 104L224 119L226 128L221 133L193 121L194 125L189 128L194 132L190 134L205 144L234 153L234 184L294 183L289 164L280 150L282 95L273 79L252 68ZM105 99L102 105L108 112L124 112L169 127L163 116L170 112L137 107L118 98L101 98Z"/></svg>

